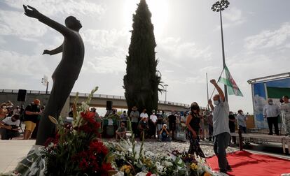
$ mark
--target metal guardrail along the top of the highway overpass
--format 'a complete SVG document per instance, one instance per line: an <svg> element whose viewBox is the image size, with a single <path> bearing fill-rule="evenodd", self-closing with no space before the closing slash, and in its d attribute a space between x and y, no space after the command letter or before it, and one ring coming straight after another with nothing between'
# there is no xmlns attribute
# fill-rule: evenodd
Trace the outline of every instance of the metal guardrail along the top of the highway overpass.
<svg viewBox="0 0 290 176"><path fill-rule="evenodd" d="M7 94L18 94L18 89L0 89L0 93L7 93ZM38 91L38 90L27 90L27 94L40 94L45 95L46 91ZM50 94L50 91L48 91L48 94ZM76 96L76 92L71 92L69 94L70 96ZM78 96L80 97L88 97L90 94L88 93L78 93ZM125 96L113 96L113 95L104 95L104 94L94 94L93 97L95 98L113 98L113 99L119 99L119 100L125 100ZM176 106L182 106L185 108L189 108L191 105L186 103L175 103L172 101L158 101L160 104L164 105L176 105ZM200 107L201 109L205 109L204 107Z"/></svg>

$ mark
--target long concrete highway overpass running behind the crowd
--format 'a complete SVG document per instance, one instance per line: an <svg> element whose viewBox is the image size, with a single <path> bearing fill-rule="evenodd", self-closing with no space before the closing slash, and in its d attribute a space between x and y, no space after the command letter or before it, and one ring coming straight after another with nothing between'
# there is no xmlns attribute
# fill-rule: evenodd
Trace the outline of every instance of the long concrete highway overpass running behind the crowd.
<svg viewBox="0 0 290 176"><path fill-rule="evenodd" d="M38 98L41 101L42 105L46 105L49 98L50 91L46 94L46 91L37 91L37 90L27 90L26 101L24 105L28 105L35 98ZM88 93L78 93L78 103L85 101L88 98ZM6 101L12 101L14 105L21 105L21 102L17 101L18 97L18 89L0 89L0 103ZM74 103L76 98L76 92L71 92L67 101L62 109L62 116L67 116L69 113L69 107ZM106 101L113 102L113 108L122 108L127 109L127 103L125 96L112 96L112 95L104 95L104 94L94 94L92 100L90 101L90 107L106 107ZM174 103L170 101L158 101L158 110L165 111L184 111L188 110L190 105L184 103ZM204 108L202 108L204 109Z"/></svg>

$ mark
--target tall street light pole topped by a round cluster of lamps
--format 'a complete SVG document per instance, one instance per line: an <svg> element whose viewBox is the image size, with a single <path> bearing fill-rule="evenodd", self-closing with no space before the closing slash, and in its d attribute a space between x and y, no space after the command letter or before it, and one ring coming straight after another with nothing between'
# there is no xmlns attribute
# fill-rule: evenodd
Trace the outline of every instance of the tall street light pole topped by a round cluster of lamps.
<svg viewBox="0 0 290 176"><path fill-rule="evenodd" d="M221 11L228 8L228 5L230 5L230 2L228 0L217 1L216 3L212 5L212 10L214 12L215 11L219 12L219 17L221 19L221 47L222 47L222 52L223 52L223 69L226 67L226 59L225 59L225 48L223 46L223 20L221 17ZM225 92L226 101L228 101L228 89L226 85L224 85L224 89L225 89L224 92Z"/></svg>

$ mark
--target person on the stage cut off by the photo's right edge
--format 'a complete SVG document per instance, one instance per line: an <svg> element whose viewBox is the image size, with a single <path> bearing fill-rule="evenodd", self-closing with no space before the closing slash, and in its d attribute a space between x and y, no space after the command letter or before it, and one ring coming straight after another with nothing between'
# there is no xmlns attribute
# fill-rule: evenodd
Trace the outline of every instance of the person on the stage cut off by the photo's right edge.
<svg viewBox="0 0 290 176"><path fill-rule="evenodd" d="M282 116L282 128L284 129L286 136L290 137L290 103L289 96L283 96L284 103L281 104L281 116Z"/></svg>

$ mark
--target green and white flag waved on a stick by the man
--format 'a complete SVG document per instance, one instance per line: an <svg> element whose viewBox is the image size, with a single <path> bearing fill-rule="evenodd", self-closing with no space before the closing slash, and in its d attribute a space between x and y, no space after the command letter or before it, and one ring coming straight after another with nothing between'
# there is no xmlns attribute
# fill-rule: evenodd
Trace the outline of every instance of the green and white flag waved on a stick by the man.
<svg viewBox="0 0 290 176"><path fill-rule="evenodd" d="M235 80L233 80L232 75L230 75L228 67L225 66L223 69L223 73L219 78L219 82L221 82L223 85L227 85L229 95L243 96L239 87L237 87L237 84L235 84Z"/></svg>

